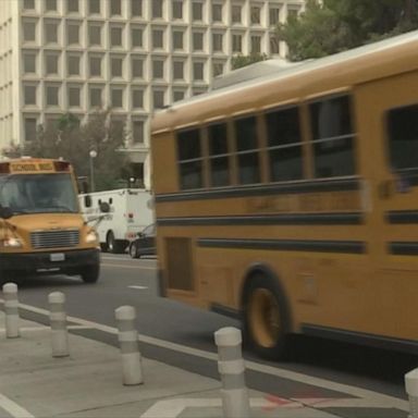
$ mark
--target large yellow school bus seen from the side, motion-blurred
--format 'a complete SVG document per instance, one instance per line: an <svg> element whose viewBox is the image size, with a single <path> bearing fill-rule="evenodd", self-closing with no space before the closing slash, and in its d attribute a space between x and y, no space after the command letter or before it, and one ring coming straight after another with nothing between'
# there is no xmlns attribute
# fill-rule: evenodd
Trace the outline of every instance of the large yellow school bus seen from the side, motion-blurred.
<svg viewBox="0 0 418 418"><path fill-rule="evenodd" d="M292 333L418 353L418 32L156 114L168 297Z"/></svg>

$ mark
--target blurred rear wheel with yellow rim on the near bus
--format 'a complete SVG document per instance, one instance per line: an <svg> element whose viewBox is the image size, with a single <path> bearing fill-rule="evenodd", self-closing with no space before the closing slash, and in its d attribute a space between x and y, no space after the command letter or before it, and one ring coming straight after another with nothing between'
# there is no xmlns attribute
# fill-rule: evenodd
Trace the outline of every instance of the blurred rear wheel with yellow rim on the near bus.
<svg viewBox="0 0 418 418"><path fill-rule="evenodd" d="M243 292L244 342L262 358L286 360L290 352L288 304L278 279L254 272Z"/></svg>

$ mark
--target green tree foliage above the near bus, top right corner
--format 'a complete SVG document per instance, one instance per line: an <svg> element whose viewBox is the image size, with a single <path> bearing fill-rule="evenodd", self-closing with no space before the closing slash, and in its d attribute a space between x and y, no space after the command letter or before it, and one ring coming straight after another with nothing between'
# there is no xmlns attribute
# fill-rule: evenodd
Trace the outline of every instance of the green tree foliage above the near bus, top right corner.
<svg viewBox="0 0 418 418"><path fill-rule="evenodd" d="M416 0L308 0L278 26L288 59L320 58L418 28Z"/></svg>

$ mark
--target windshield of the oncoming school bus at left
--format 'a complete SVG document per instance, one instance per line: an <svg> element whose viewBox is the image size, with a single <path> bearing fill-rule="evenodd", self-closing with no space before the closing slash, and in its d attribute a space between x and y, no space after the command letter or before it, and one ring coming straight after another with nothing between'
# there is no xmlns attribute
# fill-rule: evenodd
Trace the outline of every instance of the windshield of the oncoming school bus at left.
<svg viewBox="0 0 418 418"><path fill-rule="evenodd" d="M0 176L0 201L14 214L78 211L70 173Z"/></svg>

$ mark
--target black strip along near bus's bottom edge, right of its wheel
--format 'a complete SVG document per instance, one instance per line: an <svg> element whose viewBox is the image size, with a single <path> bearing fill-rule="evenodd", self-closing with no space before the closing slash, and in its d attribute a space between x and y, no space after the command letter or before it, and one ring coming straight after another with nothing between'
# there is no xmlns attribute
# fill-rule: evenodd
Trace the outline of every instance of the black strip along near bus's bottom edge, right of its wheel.
<svg viewBox="0 0 418 418"><path fill-rule="evenodd" d="M302 332L305 335L318 336L328 340L332 339L342 341L344 343L362 344L376 348L398 349L413 354L418 353L418 342L415 340L393 339L364 332L354 332L329 327L314 325L310 323L303 323Z"/></svg>

